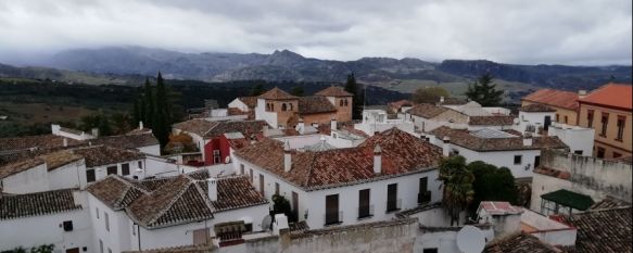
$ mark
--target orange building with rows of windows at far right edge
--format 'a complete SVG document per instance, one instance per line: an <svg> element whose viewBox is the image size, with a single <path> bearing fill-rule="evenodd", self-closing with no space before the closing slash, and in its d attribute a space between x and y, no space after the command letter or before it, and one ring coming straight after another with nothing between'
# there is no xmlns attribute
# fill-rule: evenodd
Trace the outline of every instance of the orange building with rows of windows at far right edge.
<svg viewBox="0 0 633 253"><path fill-rule="evenodd" d="M607 84L579 99L579 126L594 128L594 156L631 156L631 85Z"/></svg>

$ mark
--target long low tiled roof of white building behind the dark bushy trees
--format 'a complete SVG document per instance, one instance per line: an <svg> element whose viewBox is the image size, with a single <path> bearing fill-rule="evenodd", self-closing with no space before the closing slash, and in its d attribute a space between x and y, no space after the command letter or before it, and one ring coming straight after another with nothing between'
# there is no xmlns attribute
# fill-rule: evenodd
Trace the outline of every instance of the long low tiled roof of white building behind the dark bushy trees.
<svg viewBox="0 0 633 253"><path fill-rule="evenodd" d="M452 129L446 126L438 127L429 134L439 139L445 136L451 138L451 143L474 151L504 151L504 150L540 150L540 149L567 149L558 137L532 137L531 146L523 146L523 138L480 138L471 135L468 130Z"/></svg>

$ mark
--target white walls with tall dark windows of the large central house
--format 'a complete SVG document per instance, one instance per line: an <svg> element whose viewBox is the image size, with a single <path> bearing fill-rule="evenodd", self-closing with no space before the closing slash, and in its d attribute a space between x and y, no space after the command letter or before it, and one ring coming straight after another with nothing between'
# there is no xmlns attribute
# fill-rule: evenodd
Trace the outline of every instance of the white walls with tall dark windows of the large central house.
<svg viewBox="0 0 633 253"><path fill-rule="evenodd" d="M252 169L253 186L257 190L261 189L259 175L263 176L264 195L266 199L270 199L275 194L276 184L278 184L279 194L289 200L294 210L296 206L292 203L292 192L295 192L299 197L297 218L299 220L305 220L311 228L325 227L326 195L330 194L339 195L339 212L342 213L342 217L339 217L342 223L339 225L353 225L393 218L394 212L387 212L387 188L391 184L397 184L396 200L402 210L418 205L419 180L423 177L428 178L427 190L431 191L431 202L438 202L442 198L442 193L439 190L441 182L435 180L438 178L436 169L370 182L306 191L254 164L242 161L239 156L235 156L233 161L235 163L232 164L238 174L241 173L241 165L244 166L244 174L250 174ZM369 202L372 216L358 218L358 191L364 189L370 189Z"/></svg>

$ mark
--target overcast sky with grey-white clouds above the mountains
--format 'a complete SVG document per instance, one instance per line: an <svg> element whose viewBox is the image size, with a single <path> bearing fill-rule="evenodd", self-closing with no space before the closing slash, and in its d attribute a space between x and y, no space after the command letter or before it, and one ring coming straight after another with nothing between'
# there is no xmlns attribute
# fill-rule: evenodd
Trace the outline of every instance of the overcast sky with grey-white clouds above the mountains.
<svg viewBox="0 0 633 253"><path fill-rule="evenodd" d="M0 0L0 62L72 48L631 64L631 0Z"/></svg>

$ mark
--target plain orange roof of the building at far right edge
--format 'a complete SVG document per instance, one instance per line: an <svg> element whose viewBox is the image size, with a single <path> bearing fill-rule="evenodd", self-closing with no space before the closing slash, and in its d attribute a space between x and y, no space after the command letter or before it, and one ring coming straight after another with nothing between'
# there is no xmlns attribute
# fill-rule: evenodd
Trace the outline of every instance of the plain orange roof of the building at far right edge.
<svg viewBox="0 0 633 253"><path fill-rule="evenodd" d="M580 99L581 103L595 103L621 109L633 109L633 89L631 85L607 84L595 89L586 97Z"/></svg>

